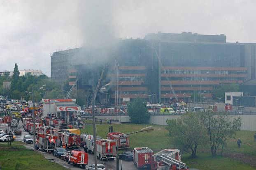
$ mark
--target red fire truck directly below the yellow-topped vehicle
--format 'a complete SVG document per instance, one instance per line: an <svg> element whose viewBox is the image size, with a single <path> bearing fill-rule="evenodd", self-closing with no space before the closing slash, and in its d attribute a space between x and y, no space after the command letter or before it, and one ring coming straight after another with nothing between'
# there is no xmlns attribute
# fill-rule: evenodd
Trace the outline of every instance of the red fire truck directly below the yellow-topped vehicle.
<svg viewBox="0 0 256 170"><path fill-rule="evenodd" d="M80 136L75 133L61 133L61 145L66 146L66 148L79 147L80 145Z"/></svg>

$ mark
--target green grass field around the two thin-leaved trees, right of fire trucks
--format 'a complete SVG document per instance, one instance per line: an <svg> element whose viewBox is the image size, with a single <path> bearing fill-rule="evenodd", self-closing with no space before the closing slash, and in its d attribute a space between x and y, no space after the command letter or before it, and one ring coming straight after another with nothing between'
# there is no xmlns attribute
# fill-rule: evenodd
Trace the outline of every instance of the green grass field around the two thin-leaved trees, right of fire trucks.
<svg viewBox="0 0 256 170"><path fill-rule="evenodd" d="M160 125L150 125L150 124L112 124L114 131L120 131L123 133L129 133L133 131L139 131L140 129L153 126L154 131L151 133L141 132L130 135L130 149L134 147L149 147L154 152L158 152L166 148L174 148L168 141L166 136L167 130L165 126ZM86 129L81 130L81 133L93 133L93 126L88 125ZM108 125L96 125L98 136L106 137L108 132ZM240 153L249 154L251 156L256 156L256 142L254 142L254 132L251 131L240 131L236 134L235 138L229 139L225 153ZM240 149L237 148L236 141L238 138L242 140L242 146ZM244 142L250 145L244 144ZM212 157L206 146L198 147L198 156L196 158L191 158L189 154L184 154L182 160L192 168L197 168L199 170L255 170L249 163L241 163L239 160L230 159L223 156ZM256 158L256 157L255 157Z"/></svg>

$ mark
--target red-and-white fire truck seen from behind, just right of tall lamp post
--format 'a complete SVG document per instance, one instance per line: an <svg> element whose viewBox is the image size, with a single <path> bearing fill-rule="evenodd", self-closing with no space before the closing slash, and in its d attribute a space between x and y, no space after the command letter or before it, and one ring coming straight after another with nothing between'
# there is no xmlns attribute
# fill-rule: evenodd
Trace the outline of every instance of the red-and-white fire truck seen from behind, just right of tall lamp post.
<svg viewBox="0 0 256 170"><path fill-rule="evenodd" d="M116 142L109 139L96 140L97 156L100 160L116 158Z"/></svg>

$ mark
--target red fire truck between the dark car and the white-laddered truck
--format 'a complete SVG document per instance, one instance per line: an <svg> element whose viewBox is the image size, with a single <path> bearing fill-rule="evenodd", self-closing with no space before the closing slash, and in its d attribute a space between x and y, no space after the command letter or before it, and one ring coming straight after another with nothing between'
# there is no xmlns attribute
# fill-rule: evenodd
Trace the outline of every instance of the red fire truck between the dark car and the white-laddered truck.
<svg viewBox="0 0 256 170"><path fill-rule="evenodd" d="M133 149L133 163L137 168L150 168L153 151L148 147L135 147Z"/></svg>

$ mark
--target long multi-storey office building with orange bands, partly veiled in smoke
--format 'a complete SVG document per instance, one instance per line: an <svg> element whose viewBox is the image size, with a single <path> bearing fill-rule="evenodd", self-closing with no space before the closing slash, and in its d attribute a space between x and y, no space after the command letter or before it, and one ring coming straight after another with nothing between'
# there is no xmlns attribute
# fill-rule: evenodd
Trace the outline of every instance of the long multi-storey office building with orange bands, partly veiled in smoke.
<svg viewBox="0 0 256 170"><path fill-rule="evenodd" d="M167 102L176 97L189 99L194 92L211 98L214 85L242 83L255 78L255 48L253 43L227 43L224 34L151 33L144 39L119 41L116 50L108 54L111 57L107 61L110 67L106 74L110 76L106 78L115 81L117 64L118 98L141 97L151 102ZM67 80L68 70L75 65L79 65L77 70L90 68L79 61L77 50L60 51L51 56L52 78L58 82ZM93 53L83 57L93 58ZM100 69L92 69L81 88L89 82L94 82L89 85L95 86ZM114 102L116 90L112 84L108 95Z"/></svg>

